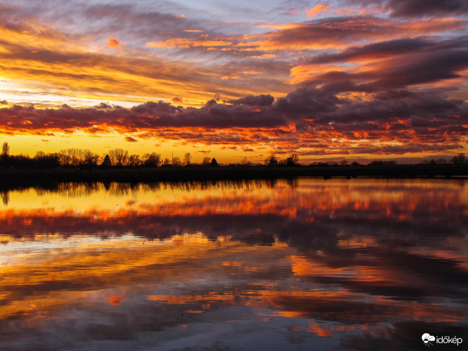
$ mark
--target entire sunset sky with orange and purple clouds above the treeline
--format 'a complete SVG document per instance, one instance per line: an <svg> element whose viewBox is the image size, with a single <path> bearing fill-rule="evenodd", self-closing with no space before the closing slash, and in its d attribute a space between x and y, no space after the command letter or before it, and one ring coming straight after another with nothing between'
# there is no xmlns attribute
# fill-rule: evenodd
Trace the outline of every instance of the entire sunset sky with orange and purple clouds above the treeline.
<svg viewBox="0 0 468 351"><path fill-rule="evenodd" d="M193 162L451 158L465 0L0 0L0 143Z"/></svg>

